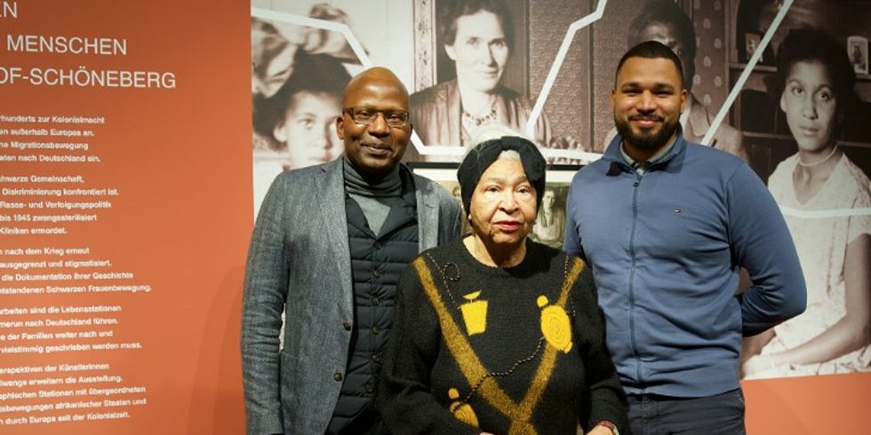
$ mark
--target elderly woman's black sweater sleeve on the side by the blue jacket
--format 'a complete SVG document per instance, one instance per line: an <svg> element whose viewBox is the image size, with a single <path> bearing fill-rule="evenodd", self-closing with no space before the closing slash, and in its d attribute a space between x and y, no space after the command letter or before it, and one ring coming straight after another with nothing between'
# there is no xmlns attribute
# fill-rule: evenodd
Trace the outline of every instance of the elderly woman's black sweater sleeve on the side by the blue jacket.
<svg viewBox="0 0 871 435"><path fill-rule="evenodd" d="M585 343L582 347L584 371L590 391L589 414L580 423L589 431L603 420L614 423L621 433L628 433L627 401L620 386L617 369L611 361L611 353L605 345L604 314L598 305L598 296L593 273L584 267L575 289L572 289L579 304L575 306L574 333ZM580 415L587 415L581 412Z"/></svg>

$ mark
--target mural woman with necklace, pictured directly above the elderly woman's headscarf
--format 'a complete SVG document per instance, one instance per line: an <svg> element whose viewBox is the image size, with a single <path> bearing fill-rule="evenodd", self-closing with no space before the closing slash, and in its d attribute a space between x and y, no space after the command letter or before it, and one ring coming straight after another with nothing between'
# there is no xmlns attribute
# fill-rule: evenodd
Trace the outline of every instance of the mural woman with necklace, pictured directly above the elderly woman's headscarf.
<svg viewBox="0 0 871 435"><path fill-rule="evenodd" d="M468 146L475 130L491 124L525 129L529 99L500 84L514 46L507 6L499 0L452 1L439 17L439 30L457 77L412 95L414 130L423 143ZM550 134L542 115L536 141L548 146Z"/></svg>

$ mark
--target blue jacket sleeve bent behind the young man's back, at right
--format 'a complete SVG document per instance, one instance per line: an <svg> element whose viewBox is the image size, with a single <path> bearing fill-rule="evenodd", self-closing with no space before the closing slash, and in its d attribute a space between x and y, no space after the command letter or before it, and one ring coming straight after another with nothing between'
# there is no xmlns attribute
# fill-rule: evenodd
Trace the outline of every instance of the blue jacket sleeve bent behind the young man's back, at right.
<svg viewBox="0 0 871 435"><path fill-rule="evenodd" d="M732 255L753 286L740 296L744 336L795 317L807 305L807 289L792 236L768 189L746 164L727 185Z"/></svg>

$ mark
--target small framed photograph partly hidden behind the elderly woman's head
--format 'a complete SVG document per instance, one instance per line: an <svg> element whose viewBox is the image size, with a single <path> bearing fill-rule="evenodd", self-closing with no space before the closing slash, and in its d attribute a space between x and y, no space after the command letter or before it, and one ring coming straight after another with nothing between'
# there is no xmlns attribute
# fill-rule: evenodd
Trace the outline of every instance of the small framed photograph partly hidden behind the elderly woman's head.
<svg viewBox="0 0 871 435"><path fill-rule="evenodd" d="M409 162L412 172L429 178L448 189L462 207L457 169L459 164L434 162ZM579 165L552 165L547 170L547 187L539 204L539 215L529 234L532 241L538 241L555 249L563 248L565 235L565 202L569 194L571 178L580 169ZM465 213L464 213L465 214ZM472 230L463 225L463 234Z"/></svg>

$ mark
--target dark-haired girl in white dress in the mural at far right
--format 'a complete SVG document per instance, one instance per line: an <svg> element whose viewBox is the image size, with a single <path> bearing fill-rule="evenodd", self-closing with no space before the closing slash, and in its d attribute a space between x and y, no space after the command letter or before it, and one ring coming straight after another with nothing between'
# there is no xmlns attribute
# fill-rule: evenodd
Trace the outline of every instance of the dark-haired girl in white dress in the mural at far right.
<svg viewBox="0 0 871 435"><path fill-rule="evenodd" d="M871 183L837 140L854 99L855 73L843 46L811 29L787 35L778 72L780 108L798 152L780 162L768 187L784 208L808 307L754 339L756 348L767 345L747 360L744 372L769 377L871 370L871 216L855 210L871 207Z"/></svg>

